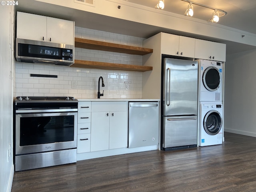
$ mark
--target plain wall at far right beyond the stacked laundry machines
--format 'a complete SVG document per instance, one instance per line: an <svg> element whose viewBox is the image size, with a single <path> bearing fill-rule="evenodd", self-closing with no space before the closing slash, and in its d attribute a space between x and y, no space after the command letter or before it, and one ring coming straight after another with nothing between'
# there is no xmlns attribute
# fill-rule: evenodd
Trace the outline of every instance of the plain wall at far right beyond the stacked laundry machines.
<svg viewBox="0 0 256 192"><path fill-rule="evenodd" d="M256 137L256 50L228 55L225 63L224 130Z"/></svg>

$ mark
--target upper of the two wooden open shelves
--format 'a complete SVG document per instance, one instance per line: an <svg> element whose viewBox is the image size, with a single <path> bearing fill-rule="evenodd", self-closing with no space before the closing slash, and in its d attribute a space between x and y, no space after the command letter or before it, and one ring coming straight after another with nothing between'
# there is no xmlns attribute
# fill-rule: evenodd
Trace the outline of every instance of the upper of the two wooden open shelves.
<svg viewBox="0 0 256 192"><path fill-rule="evenodd" d="M146 55L153 52L153 49L136 47L130 45L116 44L104 41L89 40L75 37L75 47L101 51L111 51L133 55Z"/></svg>

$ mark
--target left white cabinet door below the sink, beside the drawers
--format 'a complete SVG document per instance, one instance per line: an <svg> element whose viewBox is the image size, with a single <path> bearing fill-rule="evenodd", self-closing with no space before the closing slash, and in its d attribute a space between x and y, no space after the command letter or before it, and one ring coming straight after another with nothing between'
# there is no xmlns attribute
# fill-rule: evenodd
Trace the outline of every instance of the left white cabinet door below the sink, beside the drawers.
<svg viewBox="0 0 256 192"><path fill-rule="evenodd" d="M109 112L92 112L91 152L109 149Z"/></svg>

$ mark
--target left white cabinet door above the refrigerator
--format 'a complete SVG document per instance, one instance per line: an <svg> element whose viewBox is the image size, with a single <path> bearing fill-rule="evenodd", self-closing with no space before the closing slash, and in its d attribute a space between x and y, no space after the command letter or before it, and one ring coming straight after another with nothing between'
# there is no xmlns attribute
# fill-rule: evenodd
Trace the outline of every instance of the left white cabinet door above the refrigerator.
<svg viewBox="0 0 256 192"><path fill-rule="evenodd" d="M167 55L176 55L178 56L179 52L179 36L162 33L162 54Z"/></svg>

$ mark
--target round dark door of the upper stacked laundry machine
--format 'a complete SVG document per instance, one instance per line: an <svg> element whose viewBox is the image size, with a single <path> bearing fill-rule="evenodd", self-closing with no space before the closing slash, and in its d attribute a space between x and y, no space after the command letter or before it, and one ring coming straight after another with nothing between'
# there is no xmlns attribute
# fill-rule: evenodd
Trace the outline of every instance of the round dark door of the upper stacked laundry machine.
<svg viewBox="0 0 256 192"><path fill-rule="evenodd" d="M216 67L208 67L203 73L204 87L209 91L216 91L220 87L220 72Z"/></svg>

